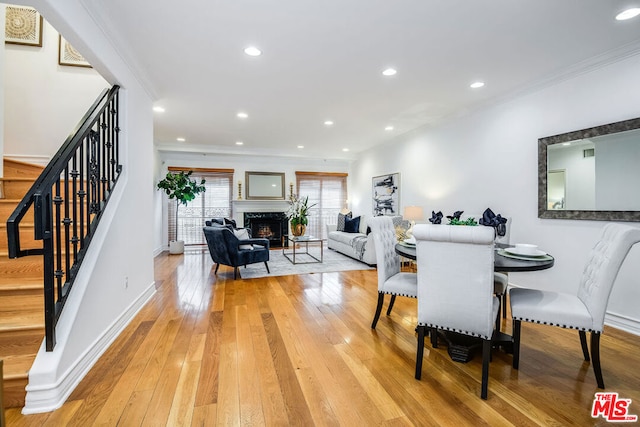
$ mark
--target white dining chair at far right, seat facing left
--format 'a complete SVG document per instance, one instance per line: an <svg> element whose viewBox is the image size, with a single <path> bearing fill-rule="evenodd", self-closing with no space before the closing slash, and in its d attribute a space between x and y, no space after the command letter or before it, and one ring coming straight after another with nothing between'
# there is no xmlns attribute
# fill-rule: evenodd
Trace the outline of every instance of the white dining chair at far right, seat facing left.
<svg viewBox="0 0 640 427"><path fill-rule="evenodd" d="M513 288L509 291L513 317L513 367L520 361L521 322L577 329L584 360L589 361L586 331L591 332L591 359L599 388L604 388L600 367L600 334L611 289L631 247L640 242L640 229L607 224L589 252L577 295Z"/></svg>

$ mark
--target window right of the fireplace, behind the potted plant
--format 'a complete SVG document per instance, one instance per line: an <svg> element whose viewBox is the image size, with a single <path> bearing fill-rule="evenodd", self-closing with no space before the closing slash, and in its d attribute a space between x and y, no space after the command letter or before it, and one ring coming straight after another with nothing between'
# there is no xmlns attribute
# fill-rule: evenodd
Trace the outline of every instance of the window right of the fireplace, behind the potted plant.
<svg viewBox="0 0 640 427"><path fill-rule="evenodd" d="M347 174L296 172L297 193L309 196L310 209L307 234L327 238L327 224L336 224L338 214L347 205Z"/></svg>

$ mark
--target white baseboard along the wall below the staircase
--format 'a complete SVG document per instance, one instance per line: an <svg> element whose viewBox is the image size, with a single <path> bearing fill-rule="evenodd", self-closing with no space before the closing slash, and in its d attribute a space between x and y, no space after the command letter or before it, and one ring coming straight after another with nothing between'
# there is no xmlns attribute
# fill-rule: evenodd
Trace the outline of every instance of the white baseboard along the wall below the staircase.
<svg viewBox="0 0 640 427"><path fill-rule="evenodd" d="M50 384L41 384L36 387L27 385L27 397L22 413L24 415L38 414L60 408L111 343L122 333L155 292L154 282L104 331L101 337L94 341L90 348L78 357L73 366L60 378Z"/></svg>

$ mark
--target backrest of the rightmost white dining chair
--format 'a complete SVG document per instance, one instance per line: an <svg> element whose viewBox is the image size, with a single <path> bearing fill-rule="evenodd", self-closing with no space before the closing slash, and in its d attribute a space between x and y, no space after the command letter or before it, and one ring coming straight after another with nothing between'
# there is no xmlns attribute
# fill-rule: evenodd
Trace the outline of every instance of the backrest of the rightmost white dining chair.
<svg viewBox="0 0 640 427"><path fill-rule="evenodd" d="M640 242L640 228L607 224L600 240L589 252L582 272L578 298L593 319L591 330L602 332L609 295L624 259L631 247Z"/></svg>

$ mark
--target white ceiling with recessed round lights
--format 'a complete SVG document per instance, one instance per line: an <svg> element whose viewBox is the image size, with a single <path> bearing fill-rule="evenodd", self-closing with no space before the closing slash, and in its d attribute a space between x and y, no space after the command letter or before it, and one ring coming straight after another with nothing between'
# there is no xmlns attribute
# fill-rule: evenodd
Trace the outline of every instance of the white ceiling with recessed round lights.
<svg viewBox="0 0 640 427"><path fill-rule="evenodd" d="M165 109L156 145L178 151L353 159L640 52L640 17L614 19L640 0L83 3Z"/></svg>

